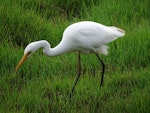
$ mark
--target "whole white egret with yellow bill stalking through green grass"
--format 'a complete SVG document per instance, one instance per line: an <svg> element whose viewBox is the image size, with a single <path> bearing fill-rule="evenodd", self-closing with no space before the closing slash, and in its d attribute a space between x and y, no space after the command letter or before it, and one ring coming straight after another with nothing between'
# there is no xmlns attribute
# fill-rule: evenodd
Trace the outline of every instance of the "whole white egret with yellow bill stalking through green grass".
<svg viewBox="0 0 150 113"><path fill-rule="evenodd" d="M51 48L51 45L46 40L35 41L27 45L24 50L24 55L15 69L17 71L20 65L39 48L43 48L43 53L47 56L57 56L67 52L77 51L78 72L75 84L72 88L72 94L81 75L80 52L87 54L94 53L102 64L102 77L100 82L100 85L102 85L105 64L98 54L107 55L107 44L124 35L125 31L115 26L105 26L92 21L77 22L65 29L61 42L54 48Z"/></svg>

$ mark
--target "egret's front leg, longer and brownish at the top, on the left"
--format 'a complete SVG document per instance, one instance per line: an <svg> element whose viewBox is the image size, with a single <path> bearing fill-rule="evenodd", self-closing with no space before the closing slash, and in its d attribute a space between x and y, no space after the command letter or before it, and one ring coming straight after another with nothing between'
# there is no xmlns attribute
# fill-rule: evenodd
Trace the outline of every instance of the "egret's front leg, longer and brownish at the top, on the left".
<svg viewBox="0 0 150 113"><path fill-rule="evenodd" d="M74 83L74 86L73 86L73 88L72 88L72 91L71 91L71 93L70 93L70 98L72 97L72 94L73 94L73 92L74 92L74 89L75 89L75 87L76 87L76 84L77 84L77 82L78 82L78 80L79 80L79 78L80 78L80 75L81 75L81 57L80 57L80 52L78 52L78 64L77 64L77 78L76 78L76 81L75 81L75 83Z"/></svg>

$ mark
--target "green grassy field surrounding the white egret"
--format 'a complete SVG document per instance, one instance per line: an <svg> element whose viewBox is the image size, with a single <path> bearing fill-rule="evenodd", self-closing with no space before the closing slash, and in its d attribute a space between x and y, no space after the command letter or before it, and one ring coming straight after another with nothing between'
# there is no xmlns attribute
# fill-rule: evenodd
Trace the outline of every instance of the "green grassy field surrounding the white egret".
<svg viewBox="0 0 150 113"><path fill-rule="evenodd" d="M150 111L149 0L1 0L0 113L148 113ZM126 31L109 44L104 84L94 55L82 54L82 77L72 99L76 53L48 58L42 50L16 73L31 41L56 46L64 29L91 20Z"/></svg>

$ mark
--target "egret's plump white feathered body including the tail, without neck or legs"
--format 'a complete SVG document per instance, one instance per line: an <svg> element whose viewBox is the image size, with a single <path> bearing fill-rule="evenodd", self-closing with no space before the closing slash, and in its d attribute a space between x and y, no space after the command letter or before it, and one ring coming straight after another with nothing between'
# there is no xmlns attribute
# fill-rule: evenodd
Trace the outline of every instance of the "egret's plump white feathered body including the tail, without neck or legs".
<svg viewBox="0 0 150 113"><path fill-rule="evenodd" d="M72 24L65 29L62 43L67 43L69 47L72 47L70 49L75 51L80 50L85 53L94 51L104 54L102 50L105 49L105 53L107 53L107 43L124 35L124 30L120 28L83 21Z"/></svg>

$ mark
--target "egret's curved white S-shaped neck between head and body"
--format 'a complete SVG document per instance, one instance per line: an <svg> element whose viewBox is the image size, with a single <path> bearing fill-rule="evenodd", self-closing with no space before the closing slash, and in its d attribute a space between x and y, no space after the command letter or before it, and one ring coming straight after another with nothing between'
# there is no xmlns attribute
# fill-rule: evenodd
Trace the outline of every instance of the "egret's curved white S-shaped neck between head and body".
<svg viewBox="0 0 150 113"><path fill-rule="evenodd" d="M46 40L42 40L40 43L41 47L43 47L43 53L47 56L57 56L68 52L66 46L61 42L54 48L51 48L50 44Z"/></svg>

